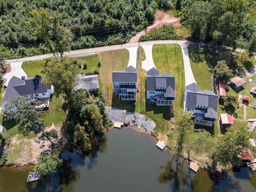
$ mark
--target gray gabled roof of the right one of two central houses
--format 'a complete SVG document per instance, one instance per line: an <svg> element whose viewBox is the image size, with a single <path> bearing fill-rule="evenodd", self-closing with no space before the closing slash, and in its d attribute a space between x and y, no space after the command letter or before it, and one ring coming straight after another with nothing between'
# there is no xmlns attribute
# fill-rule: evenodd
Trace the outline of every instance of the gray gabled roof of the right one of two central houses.
<svg viewBox="0 0 256 192"><path fill-rule="evenodd" d="M156 91L156 87L166 87L164 91L165 97L176 97L175 94L175 78L170 73L160 72L156 68L151 68L147 71L147 91Z"/></svg>

